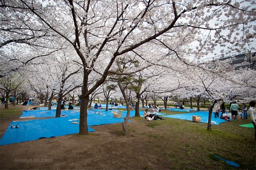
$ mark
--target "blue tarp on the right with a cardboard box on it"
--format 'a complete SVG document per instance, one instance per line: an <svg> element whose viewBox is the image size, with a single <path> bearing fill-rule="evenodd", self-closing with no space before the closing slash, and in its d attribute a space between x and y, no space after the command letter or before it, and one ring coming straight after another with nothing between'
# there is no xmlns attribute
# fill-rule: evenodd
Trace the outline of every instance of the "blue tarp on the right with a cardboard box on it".
<svg viewBox="0 0 256 170"><path fill-rule="evenodd" d="M193 116L201 116L201 121L202 123L208 123L208 111L198 111L198 112L193 112L193 113L184 113L184 114L174 114L174 115L166 115L163 117L169 117L169 118L178 118L178 119L183 119L183 120L191 120L193 121ZM219 125L220 123L226 122L224 119L220 119L220 117L215 118L214 113L211 114L211 124L214 125Z"/></svg>

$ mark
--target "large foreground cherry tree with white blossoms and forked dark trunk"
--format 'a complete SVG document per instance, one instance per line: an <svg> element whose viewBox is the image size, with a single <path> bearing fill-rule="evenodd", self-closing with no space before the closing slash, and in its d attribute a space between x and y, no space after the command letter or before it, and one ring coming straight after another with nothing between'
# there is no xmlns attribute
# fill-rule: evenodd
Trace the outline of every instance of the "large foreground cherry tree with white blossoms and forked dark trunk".
<svg viewBox="0 0 256 170"><path fill-rule="evenodd" d="M23 26L11 27L12 32L15 28L27 28L17 29L20 33L15 33L15 38L11 38L12 25L3 22L2 35L5 41L1 41L2 44L10 39L27 44L36 40L33 42L38 43L37 51L41 53L38 56L42 56L40 47L47 47L49 53L56 50L55 44L59 47L69 43L76 51L74 58L80 59L83 71L79 125L81 135L88 134L89 95L105 81L113 63L120 56L132 53L147 61L154 60L157 64L170 67L172 64L169 64L169 56L175 56L181 61L188 54L200 58L218 46L225 46L227 52L244 50L248 46L254 50L250 45L254 38L251 30L255 13L248 3L90 0L17 0L0 3L2 18L8 17L11 20L15 16L19 22L13 25ZM31 34L27 36L28 33L37 34L29 39L27 37ZM23 35L26 35L25 38ZM196 44L195 48L187 48L191 43ZM154 54L151 57L144 55L146 49L147 53ZM93 72L99 76L97 82L89 88L88 80Z"/></svg>

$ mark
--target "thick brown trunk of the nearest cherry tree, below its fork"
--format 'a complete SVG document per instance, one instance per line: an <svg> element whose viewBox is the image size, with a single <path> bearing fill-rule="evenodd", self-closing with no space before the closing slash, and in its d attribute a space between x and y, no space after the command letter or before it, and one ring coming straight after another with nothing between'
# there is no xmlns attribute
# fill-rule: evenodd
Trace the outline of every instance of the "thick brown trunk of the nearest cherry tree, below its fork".
<svg viewBox="0 0 256 170"><path fill-rule="evenodd" d="M87 124L87 106L89 103L89 96L81 96L80 106L80 124L79 124L79 135L88 135L88 124Z"/></svg>

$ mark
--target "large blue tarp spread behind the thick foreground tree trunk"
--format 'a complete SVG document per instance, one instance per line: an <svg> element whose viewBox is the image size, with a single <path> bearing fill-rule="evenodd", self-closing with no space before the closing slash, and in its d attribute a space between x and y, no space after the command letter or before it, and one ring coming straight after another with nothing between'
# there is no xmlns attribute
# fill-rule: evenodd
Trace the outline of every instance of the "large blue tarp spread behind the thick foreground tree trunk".
<svg viewBox="0 0 256 170"><path fill-rule="evenodd" d="M12 122L1 138L1 145L78 133L79 124L71 124L72 122L79 123L79 120L72 120L74 118L79 119L79 115ZM121 122L123 119L101 114L88 114L88 126ZM18 128L11 128L11 126L18 126ZM89 127L89 132L92 131L94 130Z"/></svg>

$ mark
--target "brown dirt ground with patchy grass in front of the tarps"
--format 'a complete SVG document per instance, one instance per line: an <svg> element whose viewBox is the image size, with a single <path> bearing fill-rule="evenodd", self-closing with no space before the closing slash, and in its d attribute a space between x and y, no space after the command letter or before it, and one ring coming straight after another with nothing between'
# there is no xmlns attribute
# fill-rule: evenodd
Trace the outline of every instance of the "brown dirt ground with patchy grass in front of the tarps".
<svg viewBox="0 0 256 170"><path fill-rule="evenodd" d="M24 109L27 107L20 112ZM18 117L1 119L1 137ZM249 123L246 121L243 124ZM2 145L1 169L255 169L254 129L238 124L226 122L209 132L203 123L172 118L149 122L133 117L127 136L121 124L111 124L93 126L96 132L88 136L73 134ZM241 167L230 166L214 155Z"/></svg>

